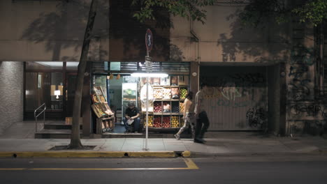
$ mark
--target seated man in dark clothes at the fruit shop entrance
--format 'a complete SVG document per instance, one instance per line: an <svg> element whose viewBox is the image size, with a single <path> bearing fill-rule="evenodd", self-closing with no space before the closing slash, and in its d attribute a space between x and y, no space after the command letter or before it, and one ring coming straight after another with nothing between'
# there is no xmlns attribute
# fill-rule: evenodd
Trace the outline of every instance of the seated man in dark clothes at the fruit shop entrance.
<svg viewBox="0 0 327 184"><path fill-rule="evenodd" d="M129 102L129 108L126 109L125 117L123 119L126 132L131 131L131 125L133 125L134 131L138 132L138 127L140 126L140 113L138 112L138 108L135 107L135 104L133 102ZM127 121L133 120L133 123L129 125Z"/></svg>

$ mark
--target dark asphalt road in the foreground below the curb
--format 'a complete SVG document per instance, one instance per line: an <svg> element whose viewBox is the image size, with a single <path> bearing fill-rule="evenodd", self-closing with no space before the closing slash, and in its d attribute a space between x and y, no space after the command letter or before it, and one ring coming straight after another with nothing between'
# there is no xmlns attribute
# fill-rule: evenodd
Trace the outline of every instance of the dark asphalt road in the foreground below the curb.
<svg viewBox="0 0 327 184"><path fill-rule="evenodd" d="M326 171L327 157L319 155L231 156L190 160L183 158L0 159L1 184L325 184L327 183Z"/></svg>

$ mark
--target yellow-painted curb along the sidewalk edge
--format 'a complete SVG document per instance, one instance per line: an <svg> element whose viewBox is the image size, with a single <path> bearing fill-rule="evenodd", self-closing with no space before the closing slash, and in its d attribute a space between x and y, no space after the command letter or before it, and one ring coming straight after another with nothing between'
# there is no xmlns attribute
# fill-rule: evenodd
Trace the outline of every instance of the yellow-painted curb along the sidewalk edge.
<svg viewBox="0 0 327 184"><path fill-rule="evenodd" d="M187 151L18 151L0 152L0 158L175 158L189 157ZM187 156L188 155L188 156Z"/></svg>

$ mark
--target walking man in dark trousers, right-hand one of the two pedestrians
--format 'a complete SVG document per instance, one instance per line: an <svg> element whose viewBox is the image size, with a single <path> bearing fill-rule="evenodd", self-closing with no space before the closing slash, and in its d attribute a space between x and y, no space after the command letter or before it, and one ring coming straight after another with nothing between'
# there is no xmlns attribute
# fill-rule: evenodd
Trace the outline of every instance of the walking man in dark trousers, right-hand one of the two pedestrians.
<svg viewBox="0 0 327 184"><path fill-rule="evenodd" d="M208 90L208 84L201 84L201 89L196 93L196 99L195 99L195 116L196 116L196 130L194 135L194 142L196 143L205 143L205 140L203 140L203 136L205 132L209 128L209 119L207 116L207 112L205 112L205 93L207 93ZM203 126L202 126L203 124Z"/></svg>

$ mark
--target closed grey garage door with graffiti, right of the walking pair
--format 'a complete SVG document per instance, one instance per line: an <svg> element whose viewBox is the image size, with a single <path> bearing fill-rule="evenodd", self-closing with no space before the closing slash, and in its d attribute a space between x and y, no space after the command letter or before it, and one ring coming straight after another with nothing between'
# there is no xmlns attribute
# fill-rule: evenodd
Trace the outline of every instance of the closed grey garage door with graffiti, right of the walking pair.
<svg viewBox="0 0 327 184"><path fill-rule="evenodd" d="M205 105L208 107L212 130L261 130L266 123L267 111L267 79L264 70L219 71L215 75L210 73L210 76L200 78L201 82L210 86L205 95Z"/></svg>

